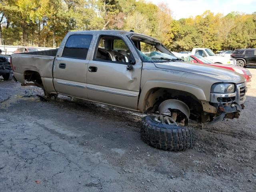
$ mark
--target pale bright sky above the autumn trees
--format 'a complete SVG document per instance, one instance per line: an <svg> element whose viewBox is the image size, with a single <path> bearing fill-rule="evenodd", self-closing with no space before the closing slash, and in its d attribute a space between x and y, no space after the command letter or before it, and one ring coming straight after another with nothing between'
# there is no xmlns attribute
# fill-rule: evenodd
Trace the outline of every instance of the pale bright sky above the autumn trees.
<svg viewBox="0 0 256 192"><path fill-rule="evenodd" d="M188 18L204 13L206 10L224 15L238 11L243 13L256 12L256 0L147 0L154 4L164 2L172 10L174 19Z"/></svg>

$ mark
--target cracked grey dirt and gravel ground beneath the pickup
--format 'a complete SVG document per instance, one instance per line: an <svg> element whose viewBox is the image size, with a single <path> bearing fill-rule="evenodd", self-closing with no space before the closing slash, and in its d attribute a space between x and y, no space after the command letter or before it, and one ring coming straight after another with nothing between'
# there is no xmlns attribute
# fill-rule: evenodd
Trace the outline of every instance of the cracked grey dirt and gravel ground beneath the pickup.
<svg viewBox="0 0 256 192"><path fill-rule="evenodd" d="M194 148L140 139L138 114L0 80L0 192L255 192L256 68L239 119L195 126Z"/></svg>

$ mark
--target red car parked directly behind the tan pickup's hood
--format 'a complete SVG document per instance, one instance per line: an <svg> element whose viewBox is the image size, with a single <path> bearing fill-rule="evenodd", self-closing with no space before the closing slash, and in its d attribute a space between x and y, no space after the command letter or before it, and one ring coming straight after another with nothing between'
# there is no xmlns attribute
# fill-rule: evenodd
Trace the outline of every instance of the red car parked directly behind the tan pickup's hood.
<svg viewBox="0 0 256 192"><path fill-rule="evenodd" d="M242 74L244 76L244 78L246 79L246 82L250 82L251 78L252 78L252 74L250 73L250 71L248 69L238 67L238 66L230 66L230 65L213 63L200 55L190 55L190 56L188 56L188 61L191 63L206 64L206 65L210 65L210 66L215 66L215 67L220 67L220 68L235 71L239 74Z"/></svg>

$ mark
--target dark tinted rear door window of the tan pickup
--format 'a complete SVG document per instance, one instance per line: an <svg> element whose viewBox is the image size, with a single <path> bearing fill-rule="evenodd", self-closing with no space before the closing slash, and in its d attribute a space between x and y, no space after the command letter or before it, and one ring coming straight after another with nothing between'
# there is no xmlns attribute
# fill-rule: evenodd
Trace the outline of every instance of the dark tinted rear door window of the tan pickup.
<svg viewBox="0 0 256 192"><path fill-rule="evenodd" d="M92 35L71 35L64 47L62 57L86 59Z"/></svg>

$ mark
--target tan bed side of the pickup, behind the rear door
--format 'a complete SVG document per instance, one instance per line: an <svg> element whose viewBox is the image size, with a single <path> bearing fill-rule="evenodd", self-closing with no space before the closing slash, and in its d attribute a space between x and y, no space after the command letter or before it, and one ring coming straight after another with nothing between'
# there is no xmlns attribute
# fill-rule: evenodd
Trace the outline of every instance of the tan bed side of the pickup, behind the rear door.
<svg viewBox="0 0 256 192"><path fill-rule="evenodd" d="M15 78L25 83L24 72L36 71L42 78L52 78L52 65L58 49L12 54Z"/></svg>

